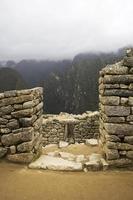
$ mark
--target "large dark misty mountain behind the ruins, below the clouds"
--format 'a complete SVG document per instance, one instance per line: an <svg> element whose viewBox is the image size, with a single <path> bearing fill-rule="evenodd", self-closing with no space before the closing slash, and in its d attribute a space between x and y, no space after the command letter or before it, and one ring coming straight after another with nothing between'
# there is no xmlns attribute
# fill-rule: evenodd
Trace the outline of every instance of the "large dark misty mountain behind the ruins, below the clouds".
<svg viewBox="0 0 133 200"><path fill-rule="evenodd" d="M99 70L122 59L124 49L111 53L82 53L73 60L8 61L28 87L44 87L44 111L82 113L98 109ZM8 68L9 69L9 68Z"/></svg>

